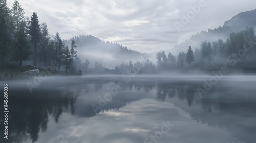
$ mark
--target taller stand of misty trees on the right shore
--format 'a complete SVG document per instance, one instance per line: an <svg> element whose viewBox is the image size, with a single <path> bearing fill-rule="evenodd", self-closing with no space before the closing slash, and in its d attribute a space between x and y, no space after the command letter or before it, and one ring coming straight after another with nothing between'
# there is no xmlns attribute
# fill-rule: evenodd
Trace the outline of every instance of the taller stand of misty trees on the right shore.
<svg viewBox="0 0 256 143"><path fill-rule="evenodd" d="M199 48L188 47L187 53L178 56L165 51L156 54L157 69L172 70L193 66L195 68L211 68L213 66L231 64L250 66L256 61L255 30L247 27L237 33L231 33L224 42L219 39L213 42L203 41Z"/></svg>

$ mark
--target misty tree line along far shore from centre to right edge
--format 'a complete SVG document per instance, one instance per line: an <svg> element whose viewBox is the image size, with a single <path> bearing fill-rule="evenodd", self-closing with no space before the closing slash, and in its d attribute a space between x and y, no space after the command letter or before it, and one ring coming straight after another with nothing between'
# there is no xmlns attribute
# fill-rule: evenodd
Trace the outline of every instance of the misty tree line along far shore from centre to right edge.
<svg viewBox="0 0 256 143"><path fill-rule="evenodd" d="M179 52L177 56L171 52L168 55L165 51L156 54L157 66L149 59L146 62L122 63L114 69L105 68L101 63L95 62L94 67L90 68L87 59L82 64L83 72L86 73L110 73L110 74L154 74L158 71L181 70L184 68L211 68L223 64L234 64L250 66L256 61L256 41L253 27L231 33L224 42L218 40L214 42L203 41L200 48L193 49L188 47L186 53ZM139 71L139 72L135 72Z"/></svg>

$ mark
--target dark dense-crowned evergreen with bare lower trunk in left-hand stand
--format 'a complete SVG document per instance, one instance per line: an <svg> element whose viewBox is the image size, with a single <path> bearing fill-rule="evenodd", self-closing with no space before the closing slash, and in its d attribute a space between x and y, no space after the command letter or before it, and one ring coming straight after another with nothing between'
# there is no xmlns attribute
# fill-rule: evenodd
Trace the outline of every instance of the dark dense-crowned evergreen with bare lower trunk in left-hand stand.
<svg viewBox="0 0 256 143"><path fill-rule="evenodd" d="M40 40L40 25L38 21L37 13L33 12L31 16L30 26L29 26L29 35L31 36L31 41L34 43L34 66L36 66L36 57L37 51L36 46Z"/></svg>

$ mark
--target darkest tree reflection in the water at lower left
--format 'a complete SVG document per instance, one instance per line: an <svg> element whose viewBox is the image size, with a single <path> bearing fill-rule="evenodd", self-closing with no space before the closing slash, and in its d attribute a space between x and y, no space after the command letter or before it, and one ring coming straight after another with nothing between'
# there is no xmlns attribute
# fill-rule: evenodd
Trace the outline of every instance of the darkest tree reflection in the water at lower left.
<svg viewBox="0 0 256 143"><path fill-rule="evenodd" d="M27 90L10 91L9 99L9 135L11 142L22 142L31 139L36 142L39 132L47 130L50 116L58 119L62 112L70 107L74 114L75 96L69 91L35 90L32 94Z"/></svg>

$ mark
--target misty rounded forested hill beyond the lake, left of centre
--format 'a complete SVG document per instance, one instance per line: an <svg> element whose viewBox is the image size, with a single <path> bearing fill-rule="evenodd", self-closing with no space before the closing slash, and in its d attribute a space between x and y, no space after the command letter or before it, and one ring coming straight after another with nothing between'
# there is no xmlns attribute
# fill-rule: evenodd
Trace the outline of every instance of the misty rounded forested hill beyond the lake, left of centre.
<svg viewBox="0 0 256 143"><path fill-rule="evenodd" d="M71 47L72 40L76 42L77 47L75 50L81 61L84 62L85 59L89 59L91 65L98 61L105 67L114 68L116 65L129 62L130 60L136 62L140 60L140 56L144 56L143 53L130 50L126 46L109 41L103 42L91 35L76 36L69 40L63 40L63 42Z"/></svg>

